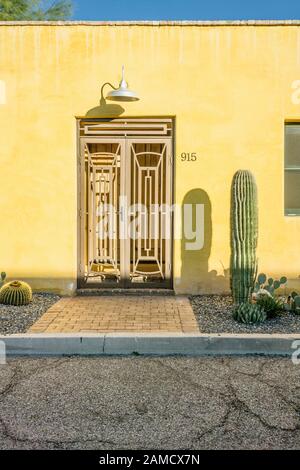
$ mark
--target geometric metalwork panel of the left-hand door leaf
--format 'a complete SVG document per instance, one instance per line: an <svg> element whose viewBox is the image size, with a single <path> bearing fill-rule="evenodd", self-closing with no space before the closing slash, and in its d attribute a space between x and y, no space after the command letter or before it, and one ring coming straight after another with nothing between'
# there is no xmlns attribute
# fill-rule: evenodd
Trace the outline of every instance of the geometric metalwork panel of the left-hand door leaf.
<svg viewBox="0 0 300 470"><path fill-rule="evenodd" d="M120 144L86 143L86 277L120 276L118 205ZM102 151L101 151L102 150Z"/></svg>

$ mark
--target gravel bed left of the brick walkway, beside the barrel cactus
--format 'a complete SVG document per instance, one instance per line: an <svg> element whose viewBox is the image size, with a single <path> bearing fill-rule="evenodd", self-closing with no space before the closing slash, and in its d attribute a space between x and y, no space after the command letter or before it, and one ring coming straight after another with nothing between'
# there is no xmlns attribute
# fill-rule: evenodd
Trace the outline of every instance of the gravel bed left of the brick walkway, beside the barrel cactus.
<svg viewBox="0 0 300 470"><path fill-rule="evenodd" d="M53 294L33 294L28 305L14 307L0 304L0 334L25 333L60 298Z"/></svg>

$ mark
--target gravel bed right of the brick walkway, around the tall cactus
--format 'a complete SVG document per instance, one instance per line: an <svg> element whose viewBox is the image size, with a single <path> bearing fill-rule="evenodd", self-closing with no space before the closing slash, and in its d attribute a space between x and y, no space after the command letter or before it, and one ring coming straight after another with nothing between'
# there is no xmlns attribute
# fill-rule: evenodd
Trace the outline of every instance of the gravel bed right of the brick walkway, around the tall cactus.
<svg viewBox="0 0 300 470"><path fill-rule="evenodd" d="M197 295L190 301L201 333L300 333L300 315L283 312L257 325L244 325L232 318L229 295Z"/></svg>

